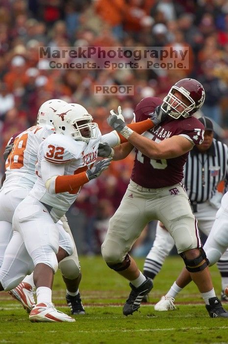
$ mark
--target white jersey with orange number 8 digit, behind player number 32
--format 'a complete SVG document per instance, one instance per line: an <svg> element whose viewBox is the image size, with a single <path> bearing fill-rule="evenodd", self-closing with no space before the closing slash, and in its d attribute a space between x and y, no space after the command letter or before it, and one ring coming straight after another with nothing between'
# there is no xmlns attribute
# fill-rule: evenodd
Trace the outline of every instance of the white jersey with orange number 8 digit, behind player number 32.
<svg viewBox="0 0 228 344"><path fill-rule="evenodd" d="M30 190L33 187L37 178L34 171L39 145L53 133L50 125L35 125L15 137L13 149L5 162L6 178L2 189L10 191L15 187L25 187Z"/></svg>

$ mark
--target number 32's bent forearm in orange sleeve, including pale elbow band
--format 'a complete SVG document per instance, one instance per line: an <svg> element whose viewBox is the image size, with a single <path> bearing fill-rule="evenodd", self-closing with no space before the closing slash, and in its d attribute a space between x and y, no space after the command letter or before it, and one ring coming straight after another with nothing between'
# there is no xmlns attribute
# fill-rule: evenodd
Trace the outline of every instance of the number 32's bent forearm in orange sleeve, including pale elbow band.
<svg viewBox="0 0 228 344"><path fill-rule="evenodd" d="M47 180L45 187L51 194L72 192L89 181L86 172L73 175L58 175Z"/></svg>

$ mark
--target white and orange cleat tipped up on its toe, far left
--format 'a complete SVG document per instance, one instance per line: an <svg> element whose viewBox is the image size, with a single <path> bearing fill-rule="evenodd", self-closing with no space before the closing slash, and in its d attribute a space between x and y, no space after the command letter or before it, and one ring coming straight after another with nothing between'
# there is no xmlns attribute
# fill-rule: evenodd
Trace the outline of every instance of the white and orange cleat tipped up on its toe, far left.
<svg viewBox="0 0 228 344"><path fill-rule="evenodd" d="M36 303L32 286L28 283L20 283L16 288L10 290L9 294L22 304L27 313L30 313L30 311L35 307Z"/></svg>

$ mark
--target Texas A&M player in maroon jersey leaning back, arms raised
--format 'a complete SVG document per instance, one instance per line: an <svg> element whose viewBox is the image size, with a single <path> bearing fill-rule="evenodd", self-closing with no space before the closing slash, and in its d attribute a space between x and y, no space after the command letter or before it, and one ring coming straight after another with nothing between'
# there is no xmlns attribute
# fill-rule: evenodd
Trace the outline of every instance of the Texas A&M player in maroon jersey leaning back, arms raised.
<svg viewBox="0 0 228 344"><path fill-rule="evenodd" d="M152 289L152 281L142 274L128 252L145 225L159 220L172 235L209 315L228 317L215 295L197 220L181 183L189 151L203 142L204 126L192 115L201 108L204 98L203 86L186 78L172 86L163 101L155 97L142 99L136 106L135 120L150 117L155 126L141 136L127 128L118 115L108 117L112 128L129 142L115 148L114 160L126 157L133 147L136 151L126 194L110 219L101 246L107 265L130 281L124 315L137 311L143 296Z"/></svg>

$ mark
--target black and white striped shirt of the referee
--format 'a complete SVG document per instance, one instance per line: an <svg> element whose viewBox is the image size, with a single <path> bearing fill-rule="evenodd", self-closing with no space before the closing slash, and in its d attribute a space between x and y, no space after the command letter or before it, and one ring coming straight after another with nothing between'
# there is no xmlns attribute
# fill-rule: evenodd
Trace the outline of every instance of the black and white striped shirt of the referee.
<svg viewBox="0 0 228 344"><path fill-rule="evenodd" d="M216 139L201 153L194 147L184 165L183 183L191 202L205 202L215 194L221 180L228 182L228 146Z"/></svg>

